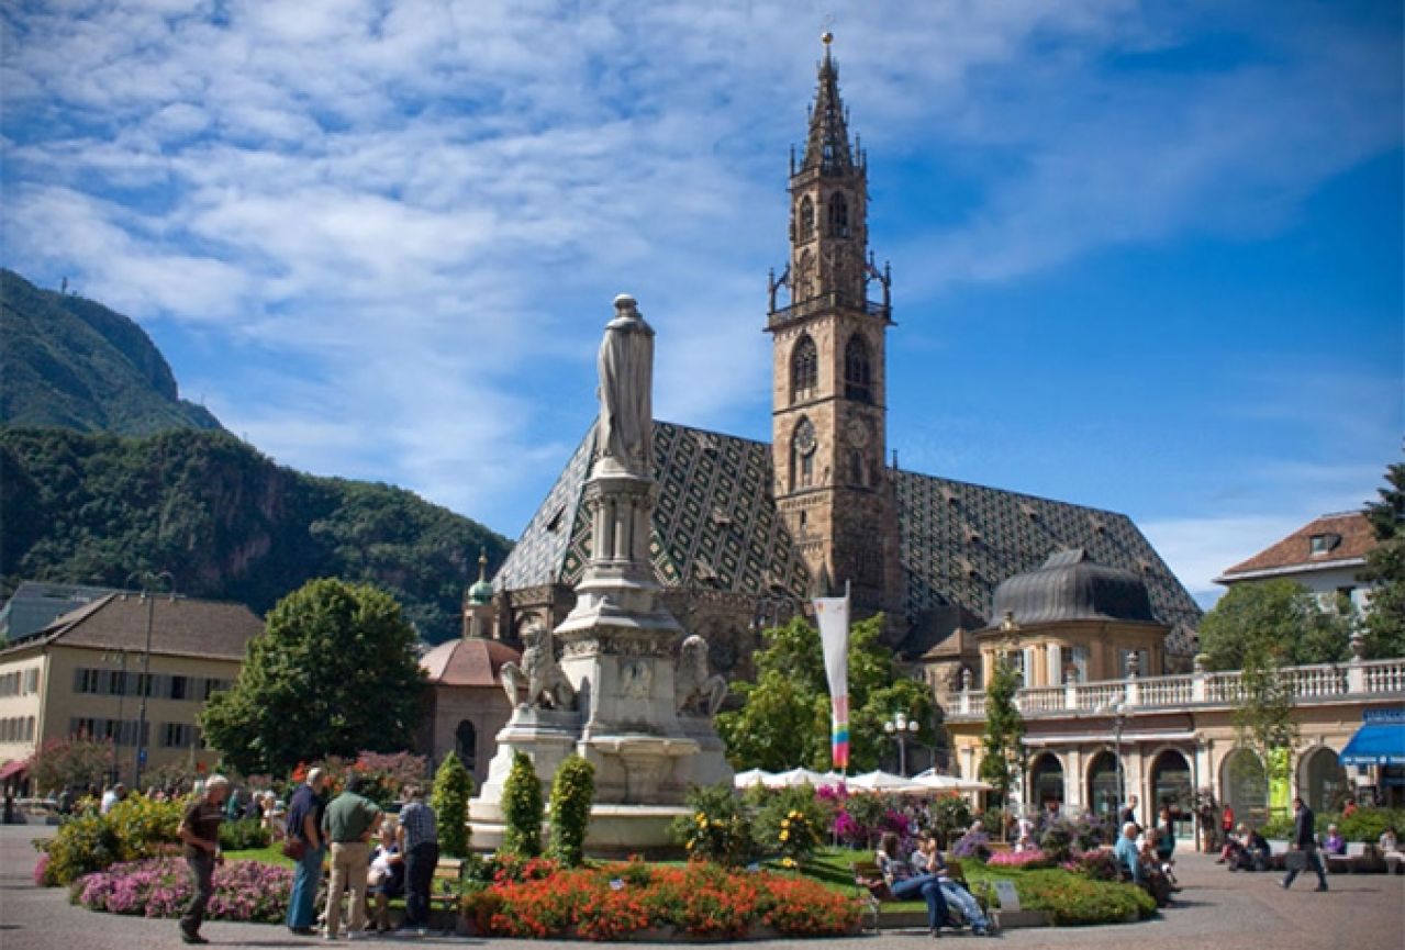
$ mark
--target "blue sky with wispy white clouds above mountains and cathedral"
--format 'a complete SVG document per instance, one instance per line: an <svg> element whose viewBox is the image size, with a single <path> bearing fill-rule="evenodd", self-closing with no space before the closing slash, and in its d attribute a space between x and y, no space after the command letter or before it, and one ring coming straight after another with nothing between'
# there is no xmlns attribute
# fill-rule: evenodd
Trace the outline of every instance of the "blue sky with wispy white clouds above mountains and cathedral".
<svg viewBox="0 0 1405 950"><path fill-rule="evenodd" d="M1196 593L1399 460L1399 3L21 3L0 260L281 462L516 537L610 301L766 438L833 14L905 468L1131 514Z"/></svg>

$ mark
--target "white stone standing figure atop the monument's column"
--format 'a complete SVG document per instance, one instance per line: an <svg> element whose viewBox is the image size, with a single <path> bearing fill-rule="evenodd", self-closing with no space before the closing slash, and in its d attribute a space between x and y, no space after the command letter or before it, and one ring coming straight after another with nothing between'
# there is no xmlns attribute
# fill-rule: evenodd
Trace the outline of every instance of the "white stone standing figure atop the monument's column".
<svg viewBox="0 0 1405 950"><path fill-rule="evenodd" d="M648 476L653 471L653 327L634 298L615 298L600 343L600 462Z"/></svg>

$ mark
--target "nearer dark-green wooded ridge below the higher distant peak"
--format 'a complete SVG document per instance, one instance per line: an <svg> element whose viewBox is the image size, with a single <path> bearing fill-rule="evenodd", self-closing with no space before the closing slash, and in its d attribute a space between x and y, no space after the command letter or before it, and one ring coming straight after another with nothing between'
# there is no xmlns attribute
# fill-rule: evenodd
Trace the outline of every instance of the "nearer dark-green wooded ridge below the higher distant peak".
<svg viewBox="0 0 1405 950"><path fill-rule="evenodd" d="M458 635L479 549L510 542L413 492L316 478L225 431L146 437L0 429L0 586L125 586L170 571L176 590L259 613L312 578L374 582L430 642Z"/></svg>

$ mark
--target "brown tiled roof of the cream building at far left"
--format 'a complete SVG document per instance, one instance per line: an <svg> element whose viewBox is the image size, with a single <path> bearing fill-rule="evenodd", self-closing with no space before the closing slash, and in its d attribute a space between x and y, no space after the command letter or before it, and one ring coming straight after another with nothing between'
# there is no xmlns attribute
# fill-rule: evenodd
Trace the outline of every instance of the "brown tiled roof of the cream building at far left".
<svg viewBox="0 0 1405 950"><path fill-rule="evenodd" d="M263 621L243 604L139 593L114 593L53 620L8 649L41 644L140 652L150 610L152 652L243 661Z"/></svg>

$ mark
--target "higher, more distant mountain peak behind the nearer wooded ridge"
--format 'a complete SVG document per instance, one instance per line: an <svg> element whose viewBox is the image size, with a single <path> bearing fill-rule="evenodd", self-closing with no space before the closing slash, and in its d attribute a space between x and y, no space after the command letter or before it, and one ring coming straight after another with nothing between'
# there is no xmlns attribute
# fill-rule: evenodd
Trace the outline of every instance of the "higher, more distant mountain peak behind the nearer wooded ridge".
<svg viewBox="0 0 1405 950"><path fill-rule="evenodd" d="M131 319L0 270L0 424L145 436L219 429L180 398L170 365Z"/></svg>

